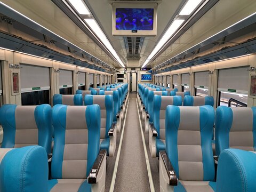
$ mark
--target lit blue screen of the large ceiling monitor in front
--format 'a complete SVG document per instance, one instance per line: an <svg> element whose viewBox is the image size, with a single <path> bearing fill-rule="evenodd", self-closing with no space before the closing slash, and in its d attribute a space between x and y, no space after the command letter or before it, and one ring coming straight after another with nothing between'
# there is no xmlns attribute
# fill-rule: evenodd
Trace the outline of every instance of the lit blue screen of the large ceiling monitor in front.
<svg viewBox="0 0 256 192"><path fill-rule="evenodd" d="M116 9L116 30L153 30L154 9Z"/></svg>

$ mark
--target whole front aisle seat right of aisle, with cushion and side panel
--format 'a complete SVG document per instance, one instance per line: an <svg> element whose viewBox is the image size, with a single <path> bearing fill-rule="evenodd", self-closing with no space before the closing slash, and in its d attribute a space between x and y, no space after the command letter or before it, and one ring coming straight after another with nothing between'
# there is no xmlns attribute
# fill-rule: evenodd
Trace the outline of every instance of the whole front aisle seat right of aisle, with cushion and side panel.
<svg viewBox="0 0 256 192"><path fill-rule="evenodd" d="M173 190L169 179L164 179L170 178L170 174L171 179L179 179L174 191L215 191L211 145L213 123L212 106L167 106L166 150L159 152L160 186L163 191ZM167 170L165 164L168 164Z"/></svg>

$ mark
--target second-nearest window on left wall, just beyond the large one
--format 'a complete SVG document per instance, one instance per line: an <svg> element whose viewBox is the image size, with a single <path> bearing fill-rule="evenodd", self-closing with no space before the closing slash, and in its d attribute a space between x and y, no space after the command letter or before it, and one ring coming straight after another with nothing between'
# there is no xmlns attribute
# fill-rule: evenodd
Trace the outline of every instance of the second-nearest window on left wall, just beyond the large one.
<svg viewBox="0 0 256 192"><path fill-rule="evenodd" d="M73 76L72 71L70 70L60 70L59 79L60 79L60 94L72 94L73 87Z"/></svg>

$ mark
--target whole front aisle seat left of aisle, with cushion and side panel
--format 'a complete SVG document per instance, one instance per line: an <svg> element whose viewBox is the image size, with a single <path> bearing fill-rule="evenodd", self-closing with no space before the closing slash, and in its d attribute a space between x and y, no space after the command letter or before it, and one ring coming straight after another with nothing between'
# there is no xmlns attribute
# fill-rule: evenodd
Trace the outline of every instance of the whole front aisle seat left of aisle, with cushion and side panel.
<svg viewBox="0 0 256 192"><path fill-rule="evenodd" d="M99 150L99 105L55 105L52 120L55 143L48 191L104 190L106 150Z"/></svg>

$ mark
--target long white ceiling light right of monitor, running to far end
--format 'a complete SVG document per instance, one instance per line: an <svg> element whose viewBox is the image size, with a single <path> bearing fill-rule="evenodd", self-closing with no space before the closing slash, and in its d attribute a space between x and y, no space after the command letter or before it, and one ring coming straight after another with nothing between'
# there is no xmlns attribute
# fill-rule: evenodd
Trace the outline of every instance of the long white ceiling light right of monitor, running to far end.
<svg viewBox="0 0 256 192"><path fill-rule="evenodd" d="M170 27L165 31L163 37L160 39L160 41L157 43L157 45L155 46L154 50L150 53L150 55L148 56L148 59L143 63L143 67L145 67L147 65L147 63L149 62L150 59L152 59L155 54L163 47L163 45L168 41L168 39L170 39L170 37L174 34L174 32L182 25L182 23L185 20L183 19L176 19L172 22L172 24L170 25Z"/></svg>

